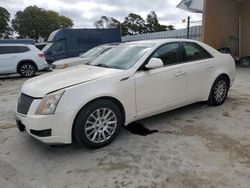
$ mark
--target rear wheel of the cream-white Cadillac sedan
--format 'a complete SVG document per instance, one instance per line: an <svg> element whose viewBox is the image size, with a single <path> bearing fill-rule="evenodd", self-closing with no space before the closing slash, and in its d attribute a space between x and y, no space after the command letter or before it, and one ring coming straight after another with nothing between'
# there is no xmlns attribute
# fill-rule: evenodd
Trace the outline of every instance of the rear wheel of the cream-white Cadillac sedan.
<svg viewBox="0 0 250 188"><path fill-rule="evenodd" d="M229 81L225 76L219 76L211 89L210 96L208 99L208 104L211 106L222 105L228 94Z"/></svg>

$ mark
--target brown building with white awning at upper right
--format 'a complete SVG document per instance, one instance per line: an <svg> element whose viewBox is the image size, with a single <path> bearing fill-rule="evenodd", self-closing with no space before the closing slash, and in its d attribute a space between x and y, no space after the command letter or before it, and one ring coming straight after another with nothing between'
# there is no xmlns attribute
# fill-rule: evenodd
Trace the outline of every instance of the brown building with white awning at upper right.
<svg viewBox="0 0 250 188"><path fill-rule="evenodd" d="M250 55L249 0L183 0L177 7L203 14L203 42L230 47L235 56Z"/></svg>

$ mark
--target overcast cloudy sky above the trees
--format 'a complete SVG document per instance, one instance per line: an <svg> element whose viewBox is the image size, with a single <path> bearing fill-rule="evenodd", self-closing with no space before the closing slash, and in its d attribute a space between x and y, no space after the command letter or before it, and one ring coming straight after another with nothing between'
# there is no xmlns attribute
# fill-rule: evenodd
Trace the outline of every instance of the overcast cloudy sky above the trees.
<svg viewBox="0 0 250 188"><path fill-rule="evenodd" d="M129 13L140 14L143 18L154 10L161 24L172 24L177 29L186 27L182 19L188 15L193 21L201 20L200 14L188 13L176 8L181 0L0 0L13 18L15 13L30 5L49 9L74 21L75 28L91 28L101 16L112 16L120 21Z"/></svg>

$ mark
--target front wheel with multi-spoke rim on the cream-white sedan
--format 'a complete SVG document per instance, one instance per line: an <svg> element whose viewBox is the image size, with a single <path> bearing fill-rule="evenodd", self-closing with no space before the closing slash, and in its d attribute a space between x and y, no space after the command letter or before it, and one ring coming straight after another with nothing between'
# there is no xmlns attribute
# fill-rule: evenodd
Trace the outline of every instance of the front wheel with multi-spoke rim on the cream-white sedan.
<svg viewBox="0 0 250 188"><path fill-rule="evenodd" d="M97 149L110 144L120 132L122 124L119 107L110 100L100 99L78 113L73 136L81 146Z"/></svg>

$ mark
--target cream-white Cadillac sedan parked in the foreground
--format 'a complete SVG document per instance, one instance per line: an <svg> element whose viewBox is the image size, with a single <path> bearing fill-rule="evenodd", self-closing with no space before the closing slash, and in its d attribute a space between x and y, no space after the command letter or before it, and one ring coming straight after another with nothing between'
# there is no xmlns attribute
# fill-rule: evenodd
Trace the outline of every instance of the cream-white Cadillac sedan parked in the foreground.
<svg viewBox="0 0 250 188"><path fill-rule="evenodd" d="M234 79L233 58L201 42L124 43L89 65L25 82L17 125L48 144L100 148L133 121L198 101L223 104Z"/></svg>

